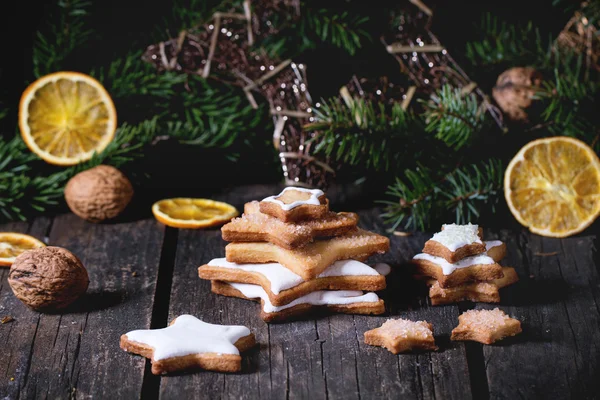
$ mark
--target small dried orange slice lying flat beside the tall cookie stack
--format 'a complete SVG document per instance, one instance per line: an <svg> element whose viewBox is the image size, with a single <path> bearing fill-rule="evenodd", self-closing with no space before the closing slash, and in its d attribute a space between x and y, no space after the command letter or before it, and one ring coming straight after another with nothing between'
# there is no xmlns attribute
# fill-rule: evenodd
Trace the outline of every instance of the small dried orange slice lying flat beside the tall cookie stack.
<svg viewBox="0 0 600 400"><path fill-rule="evenodd" d="M188 229L220 225L239 215L231 204L183 197L157 201L152 213L167 226Z"/></svg>

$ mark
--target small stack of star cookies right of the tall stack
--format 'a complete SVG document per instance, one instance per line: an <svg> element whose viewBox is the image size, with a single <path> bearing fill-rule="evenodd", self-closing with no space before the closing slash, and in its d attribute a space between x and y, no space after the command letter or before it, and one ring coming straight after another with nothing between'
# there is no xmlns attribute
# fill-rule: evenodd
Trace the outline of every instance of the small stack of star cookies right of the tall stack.
<svg viewBox="0 0 600 400"><path fill-rule="evenodd" d="M500 302L499 289L519 278L514 268L498 264L506 255L499 240L484 242L477 225L444 225L414 256L419 277L430 286L431 304L459 301Z"/></svg>

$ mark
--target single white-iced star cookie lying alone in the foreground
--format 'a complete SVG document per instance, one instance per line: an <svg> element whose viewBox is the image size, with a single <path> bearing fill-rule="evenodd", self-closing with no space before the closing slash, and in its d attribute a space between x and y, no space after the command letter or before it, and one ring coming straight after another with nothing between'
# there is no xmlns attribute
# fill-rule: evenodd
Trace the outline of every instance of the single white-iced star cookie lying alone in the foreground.
<svg viewBox="0 0 600 400"><path fill-rule="evenodd" d="M191 315L180 315L166 328L121 335L121 348L149 358L155 375L190 368L240 371L240 352L255 344L245 326L209 324Z"/></svg>

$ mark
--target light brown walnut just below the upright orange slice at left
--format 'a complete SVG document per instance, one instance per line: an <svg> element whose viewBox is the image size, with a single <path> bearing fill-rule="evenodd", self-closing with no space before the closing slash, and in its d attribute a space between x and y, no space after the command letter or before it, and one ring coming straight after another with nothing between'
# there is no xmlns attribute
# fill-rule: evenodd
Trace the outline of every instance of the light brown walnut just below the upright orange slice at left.
<svg viewBox="0 0 600 400"><path fill-rule="evenodd" d="M90 222L115 218L132 196L129 179L109 165L80 172L65 187L65 199L71 211Z"/></svg>

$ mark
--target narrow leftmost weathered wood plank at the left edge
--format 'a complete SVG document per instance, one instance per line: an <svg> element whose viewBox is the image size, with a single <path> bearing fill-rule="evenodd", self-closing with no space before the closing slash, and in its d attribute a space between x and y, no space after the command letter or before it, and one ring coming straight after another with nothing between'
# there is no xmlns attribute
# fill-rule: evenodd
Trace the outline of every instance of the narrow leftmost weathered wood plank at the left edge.
<svg viewBox="0 0 600 400"><path fill-rule="evenodd" d="M49 218L4 224L2 232L20 232L42 241L51 224ZM0 267L0 318L10 316L14 321L0 324L0 398L17 398L29 372L32 344L37 334L40 314L30 311L17 299L8 285L8 268Z"/></svg>

